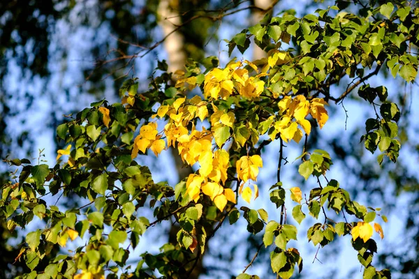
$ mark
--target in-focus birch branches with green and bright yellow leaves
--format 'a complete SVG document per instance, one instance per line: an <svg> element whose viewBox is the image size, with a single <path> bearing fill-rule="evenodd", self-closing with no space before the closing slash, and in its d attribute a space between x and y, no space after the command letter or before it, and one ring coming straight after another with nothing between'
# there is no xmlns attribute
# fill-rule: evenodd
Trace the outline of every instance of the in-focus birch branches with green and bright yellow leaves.
<svg viewBox="0 0 419 279"><path fill-rule="evenodd" d="M297 245L328 249L342 238L356 251L363 278L391 278L391 266L373 262L388 220L331 174L348 152L321 134L338 117L339 105L347 121L344 101L358 98L372 116L349 145L362 144L374 154L381 172L389 162L400 164L399 151L408 142L401 120L406 111L400 109L406 103L369 81L383 73L415 82L419 8L398 1L353 4L336 1L302 17L293 10L267 13L226 40L228 56L244 54L254 42L266 56L253 61L230 57L220 65L215 55L193 57L175 73L159 61L147 89L140 90L133 76L120 86L119 102L98 100L67 115L57 126L64 146L57 163L47 165L41 154L38 160L6 159L16 170L1 189L0 216L7 232L20 227L26 234L15 258L25 266L15 275L189 278L209 241L232 226L245 227L258 243L242 273L228 276L263 276L249 271L265 250L269 273L291 278L310 260ZM344 133L345 126L336 129ZM270 146L277 153L267 153ZM297 158L286 153L290 146ZM181 158L178 167L193 169L177 185L157 181L145 160L168 149ZM271 167L268 158L276 160L276 179L261 186L258 174ZM284 183L292 160L304 185ZM259 195L269 197L279 218L253 206ZM65 197L65 206L57 206ZM307 234L299 234L306 218ZM161 223L178 226L174 240L158 252L136 254L145 234L162 233Z"/></svg>

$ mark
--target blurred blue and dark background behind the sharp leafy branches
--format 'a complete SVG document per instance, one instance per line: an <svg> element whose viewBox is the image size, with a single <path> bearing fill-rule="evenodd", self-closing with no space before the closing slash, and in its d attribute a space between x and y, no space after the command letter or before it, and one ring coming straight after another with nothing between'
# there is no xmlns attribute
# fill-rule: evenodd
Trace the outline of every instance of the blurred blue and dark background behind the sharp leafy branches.
<svg viewBox="0 0 419 279"><path fill-rule="evenodd" d="M354 13L362 12L362 2L367 3L356 0L349 6L348 1L338 2L341 8L347 6ZM379 5L386 1L371 2ZM152 75L158 59L166 59L169 70L179 68L175 63L184 65L186 58L200 60L207 55L219 56L225 63L228 56L221 39L230 39L227 36L234 36L262 20L265 16L263 10L270 6L274 5L274 14L291 8L305 14L313 13L317 7L334 4L333 1L304 1L295 7L295 3L285 0L0 1L1 158L38 156L38 148L54 142L54 128L64 119L64 114L77 112L93 100L107 98L110 102L117 101L119 86L129 77L139 77L143 81L140 86L147 89L147 78ZM229 15L238 10L240 13ZM167 40L163 42L166 36ZM176 41L170 42L170 38ZM170 51L176 44L173 54L173 50ZM252 49L253 53L247 54L249 59L260 59L263 54L254 46ZM349 82L340 84L335 90L343 91ZM363 144L359 144L358 139L365 127L360 119L367 119L372 107L356 94L349 96L341 106L329 108L330 119L338 119L334 122L337 128L335 131L329 129L328 133L314 130L312 133L315 134L309 137L309 146L325 149L336 158L336 175L341 176L351 195L364 199L371 206L383 208L390 217L388 234L395 229L392 221L400 225L395 229L398 236L388 238L397 241L384 239L383 250L378 254L379 264L390 268L393 278L418 278L419 176L416 165L419 112L413 110L418 103L413 91L417 91L418 84L405 84L385 73L381 73L372 84L388 86L390 98L402 111L399 121L402 151L397 164L385 162L381 168L378 167L376 156L367 154ZM348 130L342 134L341 130L346 126L346 110ZM351 114L354 111L360 115ZM270 152L276 151L268 149L267 153ZM292 156L290 158L293 160ZM300 176L295 175L295 166L291 168L294 169L290 169L288 179L302 183ZM6 164L0 165L1 184L8 180L9 170ZM273 181L269 175L267 172L261 183L264 188ZM244 244L243 241L232 241L229 229L224 229L224 232L221 229L221 236L210 242L193 278L228 278L232 273L229 266L244 266L251 260L262 236L242 234L247 238ZM170 233L162 235L169 237ZM240 235L236 234L237 237ZM3 266L0 278L11 278L26 269L20 262L12 265L20 248L10 244L22 242L19 238L22 236L17 232L10 234L5 224L0 224L0 236L0 265ZM333 264L335 256L332 255L341 252L341 243L335 242L334 248L328 248L321 255L324 262L328 262L330 257L332 264L328 269L323 269L323 266L317 270L314 268L312 272L318 274L316 278L348 276ZM267 272L268 276L269 262L269 251L262 249L254 266ZM310 259L306 259L306 271L300 276L312 277L311 268L307 269L309 262ZM349 272L351 276L360 276L359 270ZM267 278L263 273L259 274L261 278Z"/></svg>

